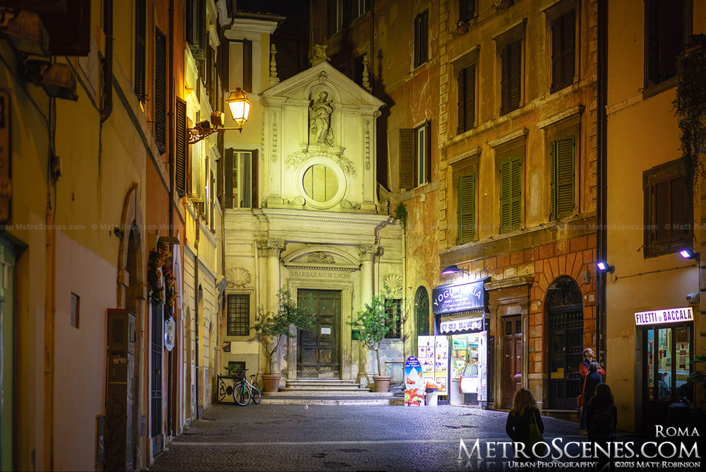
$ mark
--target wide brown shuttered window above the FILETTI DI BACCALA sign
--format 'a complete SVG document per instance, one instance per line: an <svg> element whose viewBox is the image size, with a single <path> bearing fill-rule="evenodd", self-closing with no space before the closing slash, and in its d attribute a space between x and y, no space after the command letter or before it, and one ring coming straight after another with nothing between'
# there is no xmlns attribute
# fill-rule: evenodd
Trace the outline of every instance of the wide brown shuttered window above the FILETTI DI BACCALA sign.
<svg viewBox="0 0 706 472"><path fill-rule="evenodd" d="M681 159L642 174L645 191L645 257L690 248L693 209Z"/></svg>

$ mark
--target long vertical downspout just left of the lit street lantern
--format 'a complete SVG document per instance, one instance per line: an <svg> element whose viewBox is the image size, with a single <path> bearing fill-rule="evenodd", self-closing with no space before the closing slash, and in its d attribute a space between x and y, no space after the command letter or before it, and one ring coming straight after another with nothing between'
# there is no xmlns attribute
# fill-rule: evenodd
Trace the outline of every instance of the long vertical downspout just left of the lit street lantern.
<svg viewBox="0 0 706 472"><path fill-rule="evenodd" d="M112 1L112 0L109 0ZM167 136L169 146L169 236L174 236L174 81L176 80L176 74L174 70L174 0L169 0L169 69L172 73L168 74L167 77L171 77L172 80L169 81L169 90L167 91L167 97L169 97L169 112L167 112ZM189 146L187 144L186 146ZM169 243L172 244L172 243ZM177 244L177 247L179 245ZM172 266L174 265L174 255L172 255ZM167 307L169 304L167 304ZM177 317L174 317L174 322L176 323ZM177 326L174 326L174 332L177 333ZM167 362L169 362L169 389L167 390L167 405L169 406L169 413L167 414L167 431L169 435L174 436L174 415L177 412L176 406L173 404L174 400L172 394L174 392L174 348L168 351Z"/></svg>

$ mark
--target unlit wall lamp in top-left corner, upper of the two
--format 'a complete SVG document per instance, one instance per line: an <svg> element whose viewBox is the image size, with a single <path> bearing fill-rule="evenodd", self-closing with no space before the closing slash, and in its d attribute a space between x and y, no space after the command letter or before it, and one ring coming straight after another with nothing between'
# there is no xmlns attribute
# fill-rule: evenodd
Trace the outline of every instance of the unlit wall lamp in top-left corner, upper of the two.
<svg viewBox="0 0 706 472"><path fill-rule="evenodd" d="M0 28L19 52L49 57L49 33L37 13L0 8Z"/></svg>

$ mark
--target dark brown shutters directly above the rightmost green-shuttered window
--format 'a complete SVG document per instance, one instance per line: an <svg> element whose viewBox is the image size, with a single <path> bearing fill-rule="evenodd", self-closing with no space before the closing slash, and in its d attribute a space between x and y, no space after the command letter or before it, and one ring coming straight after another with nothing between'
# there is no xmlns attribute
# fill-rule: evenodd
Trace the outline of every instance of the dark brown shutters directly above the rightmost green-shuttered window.
<svg viewBox="0 0 706 472"><path fill-rule="evenodd" d="M551 92L568 87L574 80L576 23L574 11L551 22Z"/></svg>

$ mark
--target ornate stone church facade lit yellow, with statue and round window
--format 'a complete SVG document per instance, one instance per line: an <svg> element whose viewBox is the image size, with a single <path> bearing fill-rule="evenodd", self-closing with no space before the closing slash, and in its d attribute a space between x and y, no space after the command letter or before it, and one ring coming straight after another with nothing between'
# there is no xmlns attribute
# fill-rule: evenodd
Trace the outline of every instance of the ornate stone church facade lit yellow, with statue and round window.
<svg viewBox="0 0 706 472"><path fill-rule="evenodd" d="M277 309L285 287L292 297L313 297L316 323L280 343L280 385L302 378L369 384L374 353L353 339L349 321L383 291L404 312L402 228L378 199L375 126L383 102L325 59L260 97L261 143L227 152L236 208L225 211L223 365L268 371L251 326L258 307ZM402 379L406 324L381 349L381 374L393 382Z"/></svg>

